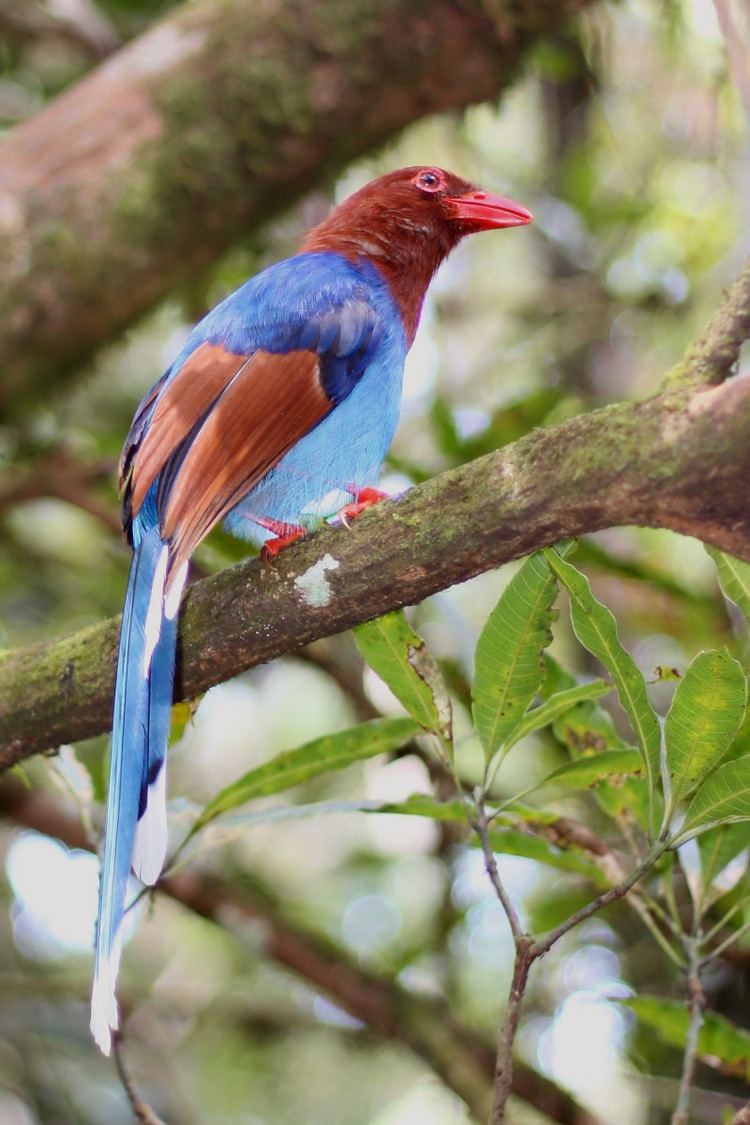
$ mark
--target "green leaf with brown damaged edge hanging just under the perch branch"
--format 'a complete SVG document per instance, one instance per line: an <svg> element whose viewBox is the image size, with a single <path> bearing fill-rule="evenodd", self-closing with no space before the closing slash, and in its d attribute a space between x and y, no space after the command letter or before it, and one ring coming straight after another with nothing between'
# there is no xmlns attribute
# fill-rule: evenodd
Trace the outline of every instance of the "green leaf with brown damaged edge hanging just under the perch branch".
<svg viewBox="0 0 750 1125"><path fill-rule="evenodd" d="M442 673L399 610L354 630L356 646L380 678L425 730L452 741L451 702Z"/></svg>

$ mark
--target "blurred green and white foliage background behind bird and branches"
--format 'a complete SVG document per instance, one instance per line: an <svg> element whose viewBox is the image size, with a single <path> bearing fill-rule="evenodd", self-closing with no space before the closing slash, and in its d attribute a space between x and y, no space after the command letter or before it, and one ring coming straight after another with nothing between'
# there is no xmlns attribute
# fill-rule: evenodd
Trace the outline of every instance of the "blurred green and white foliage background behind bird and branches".
<svg viewBox="0 0 750 1125"><path fill-rule="evenodd" d="M33 114L169 7L82 2L65 17L62 4L8 4L0 16L2 127ZM527 231L470 241L434 285L387 467L385 486L399 489L535 425L654 389L747 256L748 152L747 120L711 6L630 0L598 6L537 47L500 106L422 123L350 169L331 198L309 199L270 230L249 232L199 286L175 291L115 341L72 389L0 430L0 644L53 637L118 611L127 551L118 536L114 464L135 404L190 323L249 273L291 252L332 199L399 164L435 162L515 196L536 216ZM215 533L199 549L197 568L219 568L243 550ZM683 710L676 700L668 731L670 723L696 729L714 711L723 717L723 729L720 723L701 740L703 758L680 744L668 763L687 796L720 758L747 753L747 720L733 740L744 687L730 658L747 657L742 614L723 598L703 548L666 532L602 533L582 542L572 561L615 613L634 660L624 675L635 676L636 695L642 673L663 716L679 683ZM491 756L501 741L487 732L477 704L478 738L472 730L473 652L516 572L473 579L409 614L450 687L457 768L470 785L482 776L482 746ZM553 595L551 580L549 588ZM747 610L747 576L725 575L724 588ZM542 632L548 623L540 623ZM584 647L580 622L572 629L563 612L553 632L542 699L605 672L612 678L603 655L597 662ZM360 636L360 649L378 665L377 638L368 648ZM702 649L717 655L694 663L688 683L685 670ZM487 670L486 656L480 647L475 691L481 676L497 675L491 655ZM379 670L394 687L392 672ZM531 684L518 717L539 687ZM405 687L406 700L396 695L414 714L410 690L419 686ZM533 816L516 810L515 820L498 822L493 845L506 853L504 878L534 933L555 926L606 881L589 852L551 843L550 834L530 835L528 819L581 822L625 865L629 844L638 848L649 813L642 763L632 757L632 720L636 712L652 714L641 694L627 711L631 723L611 693L600 701L591 695L527 734L489 792L503 801L531 789L567 768L581 748L621 755L611 759L616 785L589 790L593 777L576 784L568 770L557 785L524 798ZM436 726L444 732L444 701L441 706ZM431 756L423 742L412 744L416 753L382 754L413 737L414 723L396 718L403 713L349 637L216 688L195 713L175 709L174 844L201 808L229 792L224 816L187 845L199 871L326 938L342 964L421 997L448 997L457 1018L491 1041L505 1006L510 939L460 810L444 820L405 814L425 811L404 806L412 794L448 799L452 785L448 770L436 767L440 754ZM325 741L363 720L380 724L370 728L368 744L380 756L370 757L360 740L349 757ZM310 750L315 739L324 741ZM266 764L301 746L301 758L283 759L287 783L296 781L287 790ZM74 754L33 762L28 781L72 792L84 825L98 822L105 748L97 739ZM658 766L657 748L656 774ZM241 777L244 788L233 789ZM737 778L724 791L737 795ZM707 807L711 792L706 786L695 800ZM240 806L241 795L249 803ZM376 814L389 804L400 812ZM659 812L652 806L657 820ZM0 839L8 875L0 916L0 1116L128 1120L125 1095L87 1029L93 861L9 822ZM678 926L689 934L696 902L705 908L706 933L729 916L714 945L740 929L749 839L739 825L685 848L681 867L667 870L665 862L651 892L666 894L672 937ZM138 915L123 988L130 1062L142 1092L168 1120L470 1119L427 1063L373 1037L299 974L264 956L262 920L229 917L216 926L162 897L144 902ZM668 925L658 918L657 925L669 936ZM618 903L567 934L532 975L519 1058L570 1088L602 1120L662 1122L674 1107L687 1015L683 972L665 944L681 950L679 940L659 945L642 918ZM741 1030L747 951L740 937L704 975L716 1015L698 1044L695 1120L719 1122L722 1107L738 1108L749 1097ZM521 1102L514 1114L517 1122L540 1119Z"/></svg>

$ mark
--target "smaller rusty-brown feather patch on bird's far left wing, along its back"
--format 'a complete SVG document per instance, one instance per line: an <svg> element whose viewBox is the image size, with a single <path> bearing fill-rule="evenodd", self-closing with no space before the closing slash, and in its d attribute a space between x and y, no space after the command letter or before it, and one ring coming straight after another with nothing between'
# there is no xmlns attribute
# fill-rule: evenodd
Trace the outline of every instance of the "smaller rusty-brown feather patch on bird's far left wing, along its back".
<svg viewBox="0 0 750 1125"><path fill-rule="evenodd" d="M146 433L124 462L125 471L128 465L132 466L129 492L134 515L180 442L247 363L247 356L225 351L220 344L201 344L165 387ZM144 404L147 405L150 400ZM125 482L120 480L123 484Z"/></svg>

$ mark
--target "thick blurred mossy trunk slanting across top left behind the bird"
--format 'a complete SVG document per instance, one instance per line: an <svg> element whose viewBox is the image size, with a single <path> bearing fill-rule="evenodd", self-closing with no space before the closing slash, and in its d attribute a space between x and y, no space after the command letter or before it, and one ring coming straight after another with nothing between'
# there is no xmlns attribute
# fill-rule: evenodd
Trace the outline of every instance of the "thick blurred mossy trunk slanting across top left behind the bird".
<svg viewBox="0 0 750 1125"><path fill-rule="evenodd" d="M432 112L496 98L588 0L201 0L0 144L0 418L245 231Z"/></svg>

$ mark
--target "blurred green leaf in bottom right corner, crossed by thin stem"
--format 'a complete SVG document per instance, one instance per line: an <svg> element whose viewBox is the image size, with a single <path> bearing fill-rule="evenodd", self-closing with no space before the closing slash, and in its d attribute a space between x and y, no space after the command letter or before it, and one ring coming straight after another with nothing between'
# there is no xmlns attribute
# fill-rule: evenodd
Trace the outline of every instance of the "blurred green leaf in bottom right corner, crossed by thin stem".
<svg viewBox="0 0 750 1125"><path fill-rule="evenodd" d="M689 1022L685 1004L653 996L631 997L620 1004L634 1011L665 1043L680 1050L685 1046ZM704 1012L698 1034L698 1055L708 1066L730 1071L746 1081L750 1079L750 1032L716 1011Z"/></svg>

